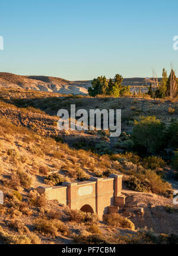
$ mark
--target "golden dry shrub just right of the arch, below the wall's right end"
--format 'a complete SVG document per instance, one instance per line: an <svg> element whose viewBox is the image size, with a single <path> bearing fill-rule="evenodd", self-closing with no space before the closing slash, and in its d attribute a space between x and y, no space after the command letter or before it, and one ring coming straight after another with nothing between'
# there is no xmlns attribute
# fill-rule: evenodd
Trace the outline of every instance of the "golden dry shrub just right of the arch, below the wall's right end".
<svg viewBox="0 0 178 256"><path fill-rule="evenodd" d="M104 215L103 219L104 222L109 226L135 230L134 223L132 223L131 220L127 219L126 217L123 217L119 213L106 214Z"/></svg>

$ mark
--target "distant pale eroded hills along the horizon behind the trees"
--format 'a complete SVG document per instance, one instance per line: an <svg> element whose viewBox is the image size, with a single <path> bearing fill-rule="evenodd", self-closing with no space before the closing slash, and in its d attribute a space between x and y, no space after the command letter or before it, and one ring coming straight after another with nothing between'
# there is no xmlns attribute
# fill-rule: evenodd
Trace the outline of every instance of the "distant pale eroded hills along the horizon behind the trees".
<svg viewBox="0 0 178 256"><path fill-rule="evenodd" d="M158 78L160 80L160 78ZM148 84L150 80L148 80ZM144 78L123 78L124 86L131 88L145 86ZM69 81L59 77L47 77L44 75L15 75L8 72L0 72L0 87L49 91L62 94L87 94L91 80ZM136 88L137 89L137 88ZM147 90L147 88L145 88Z"/></svg>

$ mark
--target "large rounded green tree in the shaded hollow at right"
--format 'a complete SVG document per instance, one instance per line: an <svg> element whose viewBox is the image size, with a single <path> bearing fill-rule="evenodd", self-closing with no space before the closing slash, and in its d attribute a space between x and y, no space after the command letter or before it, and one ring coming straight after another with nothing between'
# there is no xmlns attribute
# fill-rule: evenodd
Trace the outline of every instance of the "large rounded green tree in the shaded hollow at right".
<svg viewBox="0 0 178 256"><path fill-rule="evenodd" d="M141 116L135 121L132 140L135 148L146 148L147 153L155 153L162 146L165 125L155 116Z"/></svg>

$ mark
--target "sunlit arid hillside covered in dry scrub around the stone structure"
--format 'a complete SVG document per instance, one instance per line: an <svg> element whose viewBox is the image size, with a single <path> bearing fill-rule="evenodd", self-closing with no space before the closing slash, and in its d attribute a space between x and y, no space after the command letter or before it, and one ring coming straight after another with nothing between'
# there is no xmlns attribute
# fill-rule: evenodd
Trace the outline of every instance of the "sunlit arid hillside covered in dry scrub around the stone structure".
<svg viewBox="0 0 178 256"><path fill-rule="evenodd" d="M142 97L91 97L23 89L0 93L1 244L169 244L177 242L177 181L169 162L127 152L134 119L155 115L170 124L177 102ZM59 108L122 109L122 136L107 131L58 131ZM172 113L169 108L174 109ZM125 143L126 142L126 143ZM152 163L154 158L152 159ZM151 169L150 169L151 168ZM125 207L99 221L37 193L40 185L123 175ZM142 211L141 211L142 210ZM176 241L176 242L175 242Z"/></svg>

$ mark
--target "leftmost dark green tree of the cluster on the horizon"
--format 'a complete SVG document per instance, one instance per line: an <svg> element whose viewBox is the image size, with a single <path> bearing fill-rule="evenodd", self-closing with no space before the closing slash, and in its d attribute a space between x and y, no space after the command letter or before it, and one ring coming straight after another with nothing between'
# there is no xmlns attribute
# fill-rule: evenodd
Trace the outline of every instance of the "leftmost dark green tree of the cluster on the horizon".
<svg viewBox="0 0 178 256"><path fill-rule="evenodd" d="M91 82L91 86L88 88L88 93L90 96L95 97L98 94L107 94L108 82L106 77L97 77Z"/></svg>

